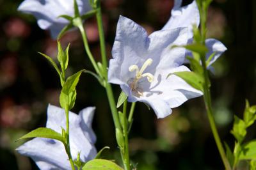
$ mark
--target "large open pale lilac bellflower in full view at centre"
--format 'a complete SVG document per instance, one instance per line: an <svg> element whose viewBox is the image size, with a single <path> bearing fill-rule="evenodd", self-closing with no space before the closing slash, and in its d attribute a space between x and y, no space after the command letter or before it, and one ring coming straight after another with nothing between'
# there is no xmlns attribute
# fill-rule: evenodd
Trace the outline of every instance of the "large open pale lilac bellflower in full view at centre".
<svg viewBox="0 0 256 170"><path fill-rule="evenodd" d="M108 80L120 84L129 102L145 102L164 118L189 98L202 95L169 73L189 71L183 66L185 49L171 48L188 42L188 29L179 27L151 35L143 27L120 16L109 63Z"/></svg>

